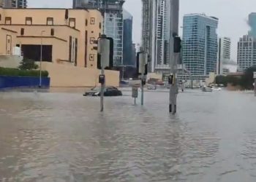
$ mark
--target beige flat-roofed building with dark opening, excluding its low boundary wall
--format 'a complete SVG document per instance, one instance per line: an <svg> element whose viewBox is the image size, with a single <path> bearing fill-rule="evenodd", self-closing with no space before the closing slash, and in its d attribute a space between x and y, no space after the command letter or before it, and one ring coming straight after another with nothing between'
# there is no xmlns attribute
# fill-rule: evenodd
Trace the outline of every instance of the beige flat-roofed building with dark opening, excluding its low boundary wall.
<svg viewBox="0 0 256 182"><path fill-rule="evenodd" d="M102 33L102 20L97 9L0 8L0 55L12 55L20 47L24 58L39 61L42 44L44 62L96 70L94 40Z"/></svg>

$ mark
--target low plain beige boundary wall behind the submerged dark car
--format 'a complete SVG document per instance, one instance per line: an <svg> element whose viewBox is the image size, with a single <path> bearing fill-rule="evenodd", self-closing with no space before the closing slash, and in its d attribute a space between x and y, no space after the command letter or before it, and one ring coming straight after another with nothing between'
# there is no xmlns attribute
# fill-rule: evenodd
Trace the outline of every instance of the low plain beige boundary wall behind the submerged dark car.
<svg viewBox="0 0 256 182"><path fill-rule="evenodd" d="M99 82L99 70L93 68L43 62L42 69L49 72L50 87L95 87ZM107 86L119 86L118 71L105 71L105 76Z"/></svg>

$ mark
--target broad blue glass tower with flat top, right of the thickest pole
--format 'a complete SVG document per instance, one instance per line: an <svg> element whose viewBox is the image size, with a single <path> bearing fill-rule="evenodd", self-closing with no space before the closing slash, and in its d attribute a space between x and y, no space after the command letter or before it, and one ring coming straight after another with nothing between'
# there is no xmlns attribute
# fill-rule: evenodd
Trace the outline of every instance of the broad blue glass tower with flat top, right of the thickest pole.
<svg viewBox="0 0 256 182"><path fill-rule="evenodd" d="M217 72L218 21L203 14L184 16L182 59L193 76Z"/></svg>

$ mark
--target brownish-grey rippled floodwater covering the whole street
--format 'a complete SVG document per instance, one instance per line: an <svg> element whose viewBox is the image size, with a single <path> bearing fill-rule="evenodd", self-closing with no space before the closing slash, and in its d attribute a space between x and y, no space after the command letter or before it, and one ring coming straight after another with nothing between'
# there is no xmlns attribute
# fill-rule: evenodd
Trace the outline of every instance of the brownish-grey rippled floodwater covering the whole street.
<svg viewBox="0 0 256 182"><path fill-rule="evenodd" d="M256 181L252 93L187 90L176 116L167 100L99 113L81 93L0 92L0 181Z"/></svg>

